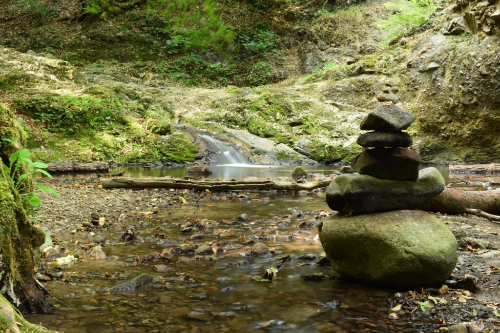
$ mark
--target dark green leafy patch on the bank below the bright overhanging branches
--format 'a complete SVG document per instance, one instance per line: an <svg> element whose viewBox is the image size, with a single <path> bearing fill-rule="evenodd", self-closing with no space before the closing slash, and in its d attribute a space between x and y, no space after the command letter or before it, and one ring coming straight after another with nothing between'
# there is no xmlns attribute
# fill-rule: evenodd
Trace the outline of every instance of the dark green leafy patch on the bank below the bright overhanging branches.
<svg viewBox="0 0 500 333"><path fill-rule="evenodd" d="M234 64L212 64L193 54L178 57L171 63L160 62L153 70L162 77L189 86L227 85L239 77Z"/></svg>

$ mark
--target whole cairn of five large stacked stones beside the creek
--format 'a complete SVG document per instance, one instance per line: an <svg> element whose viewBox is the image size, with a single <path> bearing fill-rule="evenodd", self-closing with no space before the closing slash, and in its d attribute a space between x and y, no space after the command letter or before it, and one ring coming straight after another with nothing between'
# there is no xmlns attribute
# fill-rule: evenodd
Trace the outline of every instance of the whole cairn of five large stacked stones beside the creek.
<svg viewBox="0 0 500 333"><path fill-rule="evenodd" d="M456 239L432 215L417 210L444 190L435 168L420 170L407 129L415 117L382 103L362 120L357 143L365 147L326 191L338 213L323 220L319 239L342 276L390 286L444 282L453 271Z"/></svg>

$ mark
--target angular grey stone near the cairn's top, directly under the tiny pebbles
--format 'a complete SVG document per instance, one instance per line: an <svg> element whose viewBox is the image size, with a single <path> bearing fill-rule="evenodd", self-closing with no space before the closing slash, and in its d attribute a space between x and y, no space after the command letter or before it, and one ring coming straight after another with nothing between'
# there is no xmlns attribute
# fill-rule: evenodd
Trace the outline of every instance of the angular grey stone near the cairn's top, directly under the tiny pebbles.
<svg viewBox="0 0 500 333"><path fill-rule="evenodd" d="M415 116L396 105L379 104L361 121L365 131L393 132L406 129Z"/></svg>

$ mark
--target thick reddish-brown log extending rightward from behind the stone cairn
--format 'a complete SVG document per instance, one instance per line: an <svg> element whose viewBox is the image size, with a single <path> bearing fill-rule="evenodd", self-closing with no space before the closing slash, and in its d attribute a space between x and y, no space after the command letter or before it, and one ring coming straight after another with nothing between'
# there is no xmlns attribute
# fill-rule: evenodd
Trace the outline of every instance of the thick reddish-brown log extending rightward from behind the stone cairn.
<svg viewBox="0 0 500 333"><path fill-rule="evenodd" d="M470 207L489 214L500 214L500 191L460 191L445 187L441 194L420 208L432 212L463 214Z"/></svg>

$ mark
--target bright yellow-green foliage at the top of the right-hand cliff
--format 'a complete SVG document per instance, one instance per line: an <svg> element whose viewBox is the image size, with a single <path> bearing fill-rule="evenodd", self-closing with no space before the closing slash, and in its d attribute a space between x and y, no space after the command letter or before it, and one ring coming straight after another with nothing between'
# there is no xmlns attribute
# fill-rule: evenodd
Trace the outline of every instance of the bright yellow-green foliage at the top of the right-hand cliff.
<svg viewBox="0 0 500 333"><path fill-rule="evenodd" d="M396 0L386 2L385 6L393 9L394 14L378 22L385 33L382 46L387 46L390 40L427 21L436 8L433 0Z"/></svg>

